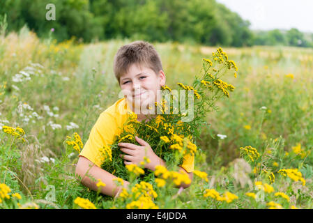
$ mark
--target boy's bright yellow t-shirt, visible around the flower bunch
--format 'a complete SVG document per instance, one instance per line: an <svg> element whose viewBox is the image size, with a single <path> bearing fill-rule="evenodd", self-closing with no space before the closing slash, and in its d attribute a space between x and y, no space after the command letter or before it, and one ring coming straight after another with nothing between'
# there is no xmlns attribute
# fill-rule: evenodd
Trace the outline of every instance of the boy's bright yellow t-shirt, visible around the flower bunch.
<svg viewBox="0 0 313 223"><path fill-rule="evenodd" d="M102 112L91 129L89 139L79 156L84 156L98 167L101 166L99 148L113 144L114 137L123 131L123 123L128 119L129 109L125 98L117 100L114 105ZM185 155L181 165L185 171L194 171L194 156Z"/></svg>

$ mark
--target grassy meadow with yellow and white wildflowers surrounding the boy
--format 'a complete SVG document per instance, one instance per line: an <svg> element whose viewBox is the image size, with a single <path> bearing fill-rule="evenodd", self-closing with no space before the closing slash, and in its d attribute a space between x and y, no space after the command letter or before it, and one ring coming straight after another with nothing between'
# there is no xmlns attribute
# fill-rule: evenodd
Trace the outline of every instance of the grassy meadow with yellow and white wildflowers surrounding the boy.
<svg viewBox="0 0 313 223"><path fill-rule="evenodd" d="M236 64L222 77L231 84L215 83L229 97L222 91L206 112L197 142L181 144L197 145L190 187L173 187L188 179L162 168L139 183L140 167L128 168L132 190L117 199L81 185L78 152L118 99L113 58L129 42L56 43L27 29L0 36L0 208L313 208L313 49L223 48ZM217 62L216 47L153 45L169 89ZM214 83L206 81L198 84Z"/></svg>

